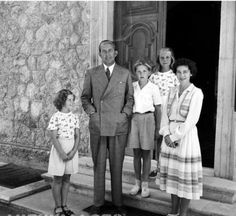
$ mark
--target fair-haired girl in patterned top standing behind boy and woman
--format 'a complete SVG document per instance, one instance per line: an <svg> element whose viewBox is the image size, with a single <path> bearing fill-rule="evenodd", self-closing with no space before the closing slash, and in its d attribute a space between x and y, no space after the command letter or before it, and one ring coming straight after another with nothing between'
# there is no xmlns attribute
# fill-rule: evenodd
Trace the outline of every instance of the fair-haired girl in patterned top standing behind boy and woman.
<svg viewBox="0 0 236 216"><path fill-rule="evenodd" d="M157 57L157 69L149 78L152 83L159 87L162 98L162 109L166 103L170 88L179 85L179 81L172 71L174 63L175 58L173 50L168 47L161 48ZM150 173L150 178L156 178L157 173L159 172L161 142L162 136L160 136L159 139L155 141L155 159L157 161L157 167Z"/></svg>

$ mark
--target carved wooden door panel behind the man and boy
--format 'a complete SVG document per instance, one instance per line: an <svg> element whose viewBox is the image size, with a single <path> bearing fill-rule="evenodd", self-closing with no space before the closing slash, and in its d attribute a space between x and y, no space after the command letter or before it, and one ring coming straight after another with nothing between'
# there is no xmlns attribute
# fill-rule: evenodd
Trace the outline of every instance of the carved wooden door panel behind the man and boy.
<svg viewBox="0 0 236 216"><path fill-rule="evenodd" d="M114 11L117 63L129 68L139 58L156 63L157 50L165 44L166 2L118 1Z"/></svg>

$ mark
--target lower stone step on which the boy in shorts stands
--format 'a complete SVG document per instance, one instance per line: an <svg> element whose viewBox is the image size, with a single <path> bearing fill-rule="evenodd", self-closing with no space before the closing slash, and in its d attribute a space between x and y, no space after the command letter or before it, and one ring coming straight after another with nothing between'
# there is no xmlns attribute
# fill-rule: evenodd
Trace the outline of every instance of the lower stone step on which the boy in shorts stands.
<svg viewBox="0 0 236 216"><path fill-rule="evenodd" d="M48 173L43 174L42 177L46 182L52 182L52 176ZM132 188L131 184L123 183L122 188L123 202L126 206L162 215L166 215L170 212L171 199L169 194L155 188L150 188L151 196L149 198L142 198L140 195L129 195L129 191ZM72 175L70 190L81 195L92 197L93 176L81 173ZM106 179L105 199L111 201L111 186L109 179ZM235 216L235 212L236 204L227 204L205 199L191 201L189 207L189 216Z"/></svg>

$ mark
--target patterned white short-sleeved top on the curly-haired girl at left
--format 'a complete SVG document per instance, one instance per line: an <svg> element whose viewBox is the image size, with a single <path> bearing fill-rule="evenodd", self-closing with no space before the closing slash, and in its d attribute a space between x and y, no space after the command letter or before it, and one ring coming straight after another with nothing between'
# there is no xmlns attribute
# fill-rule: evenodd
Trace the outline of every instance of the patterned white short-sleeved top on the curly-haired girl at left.
<svg viewBox="0 0 236 216"><path fill-rule="evenodd" d="M79 117L72 112L57 111L53 114L47 127L48 130L57 130L59 138L74 138L75 128L79 128Z"/></svg>

